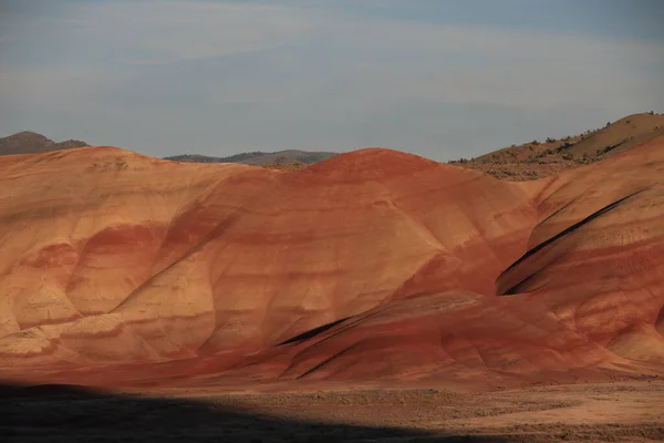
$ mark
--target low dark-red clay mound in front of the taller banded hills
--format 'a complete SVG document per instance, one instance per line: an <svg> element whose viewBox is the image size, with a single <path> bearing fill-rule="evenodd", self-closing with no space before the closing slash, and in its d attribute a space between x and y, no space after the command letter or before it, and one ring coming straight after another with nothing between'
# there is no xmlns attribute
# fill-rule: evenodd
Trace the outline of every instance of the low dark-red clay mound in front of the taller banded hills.
<svg viewBox="0 0 664 443"><path fill-rule="evenodd" d="M543 306L457 290L395 300L235 370L280 380L443 379L463 385L486 381L491 370L530 377L620 361Z"/></svg>

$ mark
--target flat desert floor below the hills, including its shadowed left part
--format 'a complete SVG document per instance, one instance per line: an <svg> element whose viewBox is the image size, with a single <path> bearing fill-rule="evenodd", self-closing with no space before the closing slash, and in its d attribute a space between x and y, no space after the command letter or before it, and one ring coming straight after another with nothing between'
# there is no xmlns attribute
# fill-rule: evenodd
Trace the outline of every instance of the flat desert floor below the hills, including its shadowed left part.
<svg viewBox="0 0 664 443"><path fill-rule="evenodd" d="M437 389L157 393L0 389L3 442L653 442L664 380Z"/></svg>

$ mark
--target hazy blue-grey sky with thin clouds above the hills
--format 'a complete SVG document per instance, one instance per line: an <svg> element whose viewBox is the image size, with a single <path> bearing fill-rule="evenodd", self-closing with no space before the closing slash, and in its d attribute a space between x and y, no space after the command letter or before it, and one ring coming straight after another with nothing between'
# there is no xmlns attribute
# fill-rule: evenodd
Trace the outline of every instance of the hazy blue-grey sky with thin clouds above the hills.
<svg viewBox="0 0 664 443"><path fill-rule="evenodd" d="M9 0L0 136L438 161L664 112L660 0Z"/></svg>

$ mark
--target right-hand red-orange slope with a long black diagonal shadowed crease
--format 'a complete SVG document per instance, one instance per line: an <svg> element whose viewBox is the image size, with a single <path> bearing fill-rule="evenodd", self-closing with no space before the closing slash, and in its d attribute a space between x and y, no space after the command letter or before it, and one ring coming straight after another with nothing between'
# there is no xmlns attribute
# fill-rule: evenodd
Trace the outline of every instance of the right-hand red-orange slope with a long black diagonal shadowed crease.
<svg viewBox="0 0 664 443"><path fill-rule="evenodd" d="M664 361L664 137L561 175L538 206L499 293L547 303L620 356Z"/></svg>

